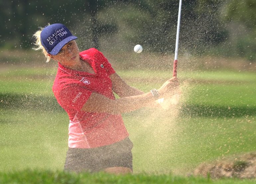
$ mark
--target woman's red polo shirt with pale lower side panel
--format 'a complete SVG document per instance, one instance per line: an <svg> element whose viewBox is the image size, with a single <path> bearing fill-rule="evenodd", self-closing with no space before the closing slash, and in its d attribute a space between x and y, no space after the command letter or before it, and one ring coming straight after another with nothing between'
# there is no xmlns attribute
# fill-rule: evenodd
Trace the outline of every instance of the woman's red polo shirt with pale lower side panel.
<svg viewBox="0 0 256 184"><path fill-rule="evenodd" d="M92 92L114 100L109 75L115 73L108 60L97 49L80 52L80 58L88 62L95 74L59 68L53 92L69 116L69 148L95 148L113 144L128 137L121 115L81 111Z"/></svg>

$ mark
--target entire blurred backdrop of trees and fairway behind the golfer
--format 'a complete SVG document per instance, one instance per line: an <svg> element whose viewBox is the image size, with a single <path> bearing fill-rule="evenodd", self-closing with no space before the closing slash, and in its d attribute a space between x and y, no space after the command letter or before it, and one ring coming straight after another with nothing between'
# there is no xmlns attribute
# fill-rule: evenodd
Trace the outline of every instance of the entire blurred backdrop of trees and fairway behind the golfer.
<svg viewBox="0 0 256 184"><path fill-rule="evenodd" d="M32 50L38 27L64 23L80 50L98 48L128 84L148 92L172 76L178 6L0 0L0 171L64 166L68 116L51 89L57 63ZM180 104L123 115L135 173L188 174L203 161L255 151L255 10L254 0L183 1Z"/></svg>

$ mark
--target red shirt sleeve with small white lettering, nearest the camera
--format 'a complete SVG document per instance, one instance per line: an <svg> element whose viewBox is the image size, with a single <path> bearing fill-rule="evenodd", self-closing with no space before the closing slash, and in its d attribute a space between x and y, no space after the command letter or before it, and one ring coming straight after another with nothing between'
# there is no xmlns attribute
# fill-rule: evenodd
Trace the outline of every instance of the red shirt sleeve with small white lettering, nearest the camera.
<svg viewBox="0 0 256 184"><path fill-rule="evenodd" d="M71 109L80 111L91 94L92 91L82 86L68 86L60 91L58 101L67 112Z"/></svg>

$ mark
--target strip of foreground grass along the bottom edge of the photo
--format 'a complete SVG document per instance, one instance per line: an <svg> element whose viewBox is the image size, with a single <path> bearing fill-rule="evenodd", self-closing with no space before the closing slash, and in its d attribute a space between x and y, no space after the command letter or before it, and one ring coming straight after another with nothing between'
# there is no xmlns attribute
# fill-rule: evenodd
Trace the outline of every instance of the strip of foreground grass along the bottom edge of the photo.
<svg viewBox="0 0 256 184"><path fill-rule="evenodd" d="M24 170L24 171L12 171L1 172L0 183L12 184L12 183L55 183L55 184L82 184L82 183L95 183L95 184L253 184L255 180L250 179L220 179L211 180L210 178L201 177L182 177L174 176L172 174L135 174L135 175L110 175L106 173L66 173L63 171L40 171L40 170Z"/></svg>

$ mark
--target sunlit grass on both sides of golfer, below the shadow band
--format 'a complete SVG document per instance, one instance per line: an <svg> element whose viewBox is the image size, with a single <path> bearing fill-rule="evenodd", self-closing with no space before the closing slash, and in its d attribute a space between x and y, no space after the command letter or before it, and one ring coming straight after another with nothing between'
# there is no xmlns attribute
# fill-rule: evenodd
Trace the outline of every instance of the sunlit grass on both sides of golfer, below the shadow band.
<svg viewBox="0 0 256 184"><path fill-rule="evenodd" d="M256 116L172 120L161 112L154 115L150 112L123 115L134 143L135 173L184 173L202 161L255 150L251 145L256 145L253 123ZM68 129L64 112L1 110L0 113L2 171L63 168Z"/></svg>

